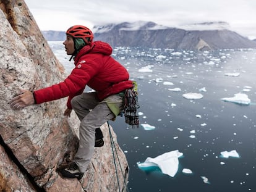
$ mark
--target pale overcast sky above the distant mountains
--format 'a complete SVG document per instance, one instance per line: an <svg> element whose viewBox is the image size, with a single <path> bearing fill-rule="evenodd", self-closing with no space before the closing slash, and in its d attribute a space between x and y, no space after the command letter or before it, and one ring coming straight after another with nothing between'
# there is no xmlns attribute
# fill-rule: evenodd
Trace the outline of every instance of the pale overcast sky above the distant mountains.
<svg viewBox="0 0 256 192"><path fill-rule="evenodd" d="M152 21L184 28L202 22L228 22L230 30L256 38L256 0L25 0L41 30L66 31L72 25Z"/></svg>

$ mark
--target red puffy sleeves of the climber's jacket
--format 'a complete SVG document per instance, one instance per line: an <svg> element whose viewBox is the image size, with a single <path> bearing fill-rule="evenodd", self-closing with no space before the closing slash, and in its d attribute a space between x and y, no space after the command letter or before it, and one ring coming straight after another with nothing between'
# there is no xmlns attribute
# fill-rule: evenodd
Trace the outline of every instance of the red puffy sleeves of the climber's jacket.
<svg viewBox="0 0 256 192"><path fill-rule="evenodd" d="M83 92L90 78L95 75L96 69L96 67L93 67L93 64L77 64L69 77L63 82L34 91L36 104L71 96L67 106L69 109L72 109L70 108L70 100Z"/></svg>

